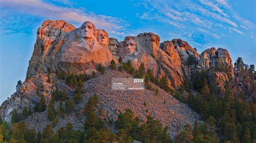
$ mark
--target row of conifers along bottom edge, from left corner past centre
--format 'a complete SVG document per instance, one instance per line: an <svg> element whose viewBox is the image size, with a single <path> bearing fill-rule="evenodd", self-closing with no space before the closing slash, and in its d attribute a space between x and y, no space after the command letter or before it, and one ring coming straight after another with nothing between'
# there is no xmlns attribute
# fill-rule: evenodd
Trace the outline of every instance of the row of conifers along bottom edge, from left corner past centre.
<svg viewBox="0 0 256 143"><path fill-rule="evenodd" d="M61 101L61 99L60 99ZM57 132L53 125L47 125L44 131L29 130L25 121L13 123L12 128L6 121L0 120L0 141L6 142L133 142L134 139L143 142L172 142L167 127L163 128L159 121L147 117L146 123L141 123L134 117L130 109L118 115L117 121L110 121L117 131L113 133L102 120L103 109L98 107L99 98L95 94L85 104L86 121L83 131L75 131L73 124L68 123ZM50 108L50 107L49 107Z"/></svg>

